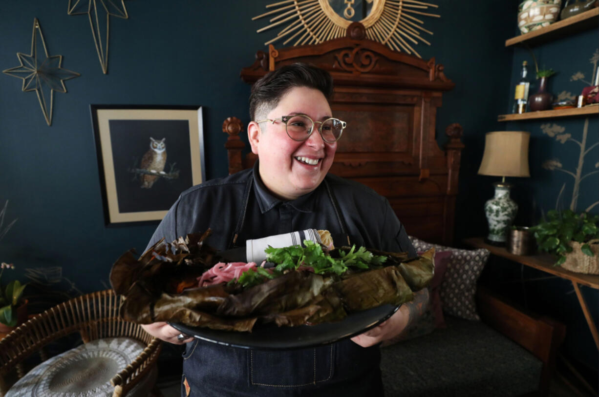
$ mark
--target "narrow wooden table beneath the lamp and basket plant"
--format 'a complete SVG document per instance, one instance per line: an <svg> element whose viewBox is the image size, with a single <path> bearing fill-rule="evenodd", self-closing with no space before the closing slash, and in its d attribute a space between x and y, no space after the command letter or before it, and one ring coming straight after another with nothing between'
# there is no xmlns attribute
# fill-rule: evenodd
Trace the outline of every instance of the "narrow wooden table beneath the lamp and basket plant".
<svg viewBox="0 0 599 397"><path fill-rule="evenodd" d="M537 270L553 274L554 276L558 276L565 280L570 280L570 282L574 286L574 291L576 291L576 296L578 297L578 302L580 303L582 312L585 314L586 323L588 324L589 329L591 330L591 334L593 335L593 339L595 340L595 345L597 345L597 349L599 349L599 334L597 333L597 326L595 326L593 317L589 312L588 306L586 306L585 299L580 293L579 287L579 285L586 285L594 289L599 289L599 276L595 276L592 274L574 273L573 271L565 270L560 266L554 266L553 264L555 263L555 258L553 258L553 256L550 255L510 254L510 252L507 252L507 249L505 247L498 247L485 243L483 237L472 237L470 239L464 239L464 243L474 248L486 248L489 251L491 251L491 254L493 255L501 256L503 258L510 259L510 261L534 267Z"/></svg>

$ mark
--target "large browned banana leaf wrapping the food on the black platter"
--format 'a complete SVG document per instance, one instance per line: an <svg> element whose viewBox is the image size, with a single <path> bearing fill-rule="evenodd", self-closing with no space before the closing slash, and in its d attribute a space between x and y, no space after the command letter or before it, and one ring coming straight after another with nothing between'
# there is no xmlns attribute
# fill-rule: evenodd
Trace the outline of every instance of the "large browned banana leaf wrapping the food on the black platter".
<svg viewBox="0 0 599 397"><path fill-rule="evenodd" d="M342 320L348 313L412 300L412 291L432 279L434 251L417 258L386 255L382 267L343 276L294 270L252 288L196 286L205 270L222 259L204 234L156 243L140 258L134 251L114 263L110 281L123 295L120 316L135 323L171 321L228 331L252 331L255 323L297 326Z"/></svg>

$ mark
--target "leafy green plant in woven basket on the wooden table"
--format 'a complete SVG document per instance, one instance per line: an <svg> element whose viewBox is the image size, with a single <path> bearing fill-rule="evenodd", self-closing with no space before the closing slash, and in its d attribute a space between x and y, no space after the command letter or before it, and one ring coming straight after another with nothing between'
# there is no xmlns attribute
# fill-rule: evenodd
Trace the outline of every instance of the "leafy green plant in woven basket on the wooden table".
<svg viewBox="0 0 599 397"><path fill-rule="evenodd" d="M599 273L597 254L599 242L599 216L589 213L575 213L572 210L547 212L547 219L531 227L537 245L541 251L558 256L555 265L579 273ZM582 256L581 256L582 255ZM568 259L585 259L588 257L590 269L574 269Z"/></svg>

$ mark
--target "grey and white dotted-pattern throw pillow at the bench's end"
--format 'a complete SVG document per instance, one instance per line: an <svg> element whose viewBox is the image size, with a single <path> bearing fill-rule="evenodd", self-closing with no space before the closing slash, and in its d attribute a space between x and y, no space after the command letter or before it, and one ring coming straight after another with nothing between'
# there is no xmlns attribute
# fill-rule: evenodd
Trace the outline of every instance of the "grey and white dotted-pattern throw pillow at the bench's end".
<svg viewBox="0 0 599 397"><path fill-rule="evenodd" d="M467 320L480 320L476 313L474 294L476 282L489 259L488 249L457 249L423 242L410 237L416 251L426 251L432 247L439 251L451 251L447 270L441 283L441 304L443 312Z"/></svg>

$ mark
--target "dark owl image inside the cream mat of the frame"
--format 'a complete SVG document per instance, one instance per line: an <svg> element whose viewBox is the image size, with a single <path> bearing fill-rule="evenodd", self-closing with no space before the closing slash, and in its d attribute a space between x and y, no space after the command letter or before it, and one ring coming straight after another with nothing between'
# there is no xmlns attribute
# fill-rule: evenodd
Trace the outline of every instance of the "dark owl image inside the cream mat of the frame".
<svg viewBox="0 0 599 397"><path fill-rule="evenodd" d="M119 212L168 210L193 185L189 122L110 120L109 124Z"/></svg>

